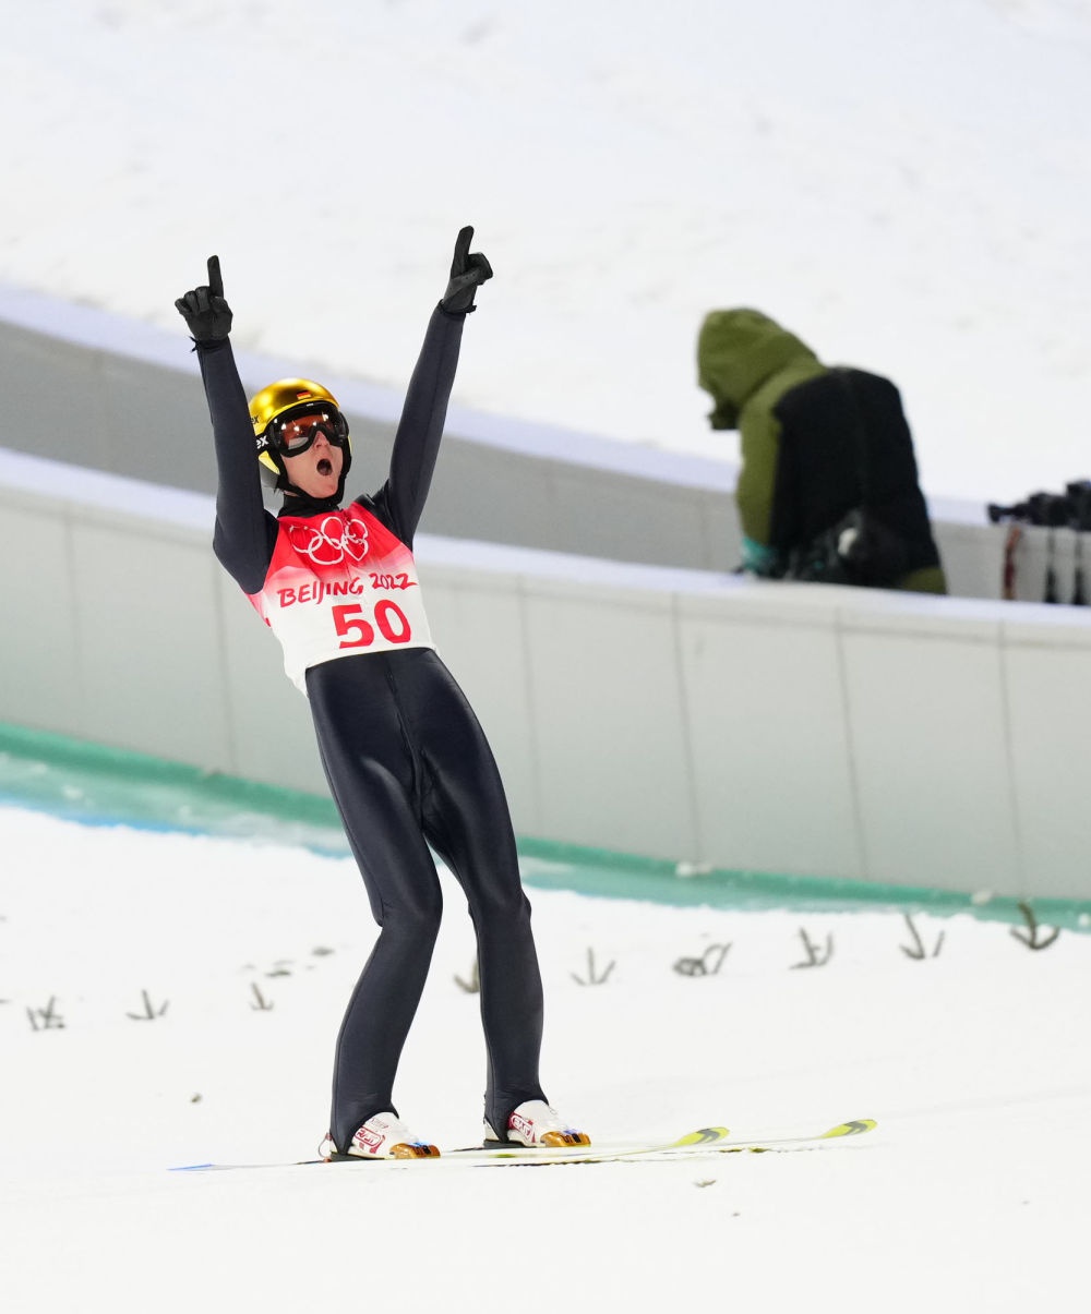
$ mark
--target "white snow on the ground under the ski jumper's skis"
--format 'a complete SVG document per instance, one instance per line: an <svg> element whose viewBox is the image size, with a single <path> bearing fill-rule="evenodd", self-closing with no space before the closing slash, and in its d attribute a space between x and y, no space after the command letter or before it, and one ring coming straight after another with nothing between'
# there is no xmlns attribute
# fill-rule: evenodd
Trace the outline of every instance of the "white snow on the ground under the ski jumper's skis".
<svg viewBox="0 0 1091 1314"><path fill-rule="evenodd" d="M915 915L928 953L916 961L896 909L531 890L547 1092L597 1139L854 1117L878 1130L684 1163L177 1173L313 1154L335 1030L375 936L355 867L16 807L0 808L0 833L12 1314L1082 1307L1087 936L1032 953L999 922ZM476 996L456 982L471 972L469 921L443 883L397 1099L453 1146L480 1130L484 1050ZM803 932L823 949L832 936L825 966L797 966ZM714 963L723 945L718 972L674 970L706 951ZM598 975L614 964L602 984L576 980L589 951Z"/></svg>

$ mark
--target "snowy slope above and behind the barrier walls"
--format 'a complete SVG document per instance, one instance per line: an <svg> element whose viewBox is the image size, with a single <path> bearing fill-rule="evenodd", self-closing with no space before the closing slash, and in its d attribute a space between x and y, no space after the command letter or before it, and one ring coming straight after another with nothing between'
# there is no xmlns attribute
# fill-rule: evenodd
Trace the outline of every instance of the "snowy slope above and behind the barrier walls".
<svg viewBox="0 0 1091 1314"><path fill-rule="evenodd" d="M1091 474L1087 0L53 0L0 47L0 280L404 388L456 230L455 402L736 457L705 311L903 390L925 490Z"/></svg>

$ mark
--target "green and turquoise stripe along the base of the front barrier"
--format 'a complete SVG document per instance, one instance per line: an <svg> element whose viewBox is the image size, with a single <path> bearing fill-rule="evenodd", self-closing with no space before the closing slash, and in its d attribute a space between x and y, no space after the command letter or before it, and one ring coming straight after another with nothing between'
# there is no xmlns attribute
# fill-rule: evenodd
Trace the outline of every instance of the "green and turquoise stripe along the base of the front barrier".
<svg viewBox="0 0 1091 1314"><path fill-rule="evenodd" d="M128 749L0 723L0 802L84 825L129 825L276 844L347 857L348 844L327 796L259 784ZM1024 924L1013 899L975 903L970 894L927 886L698 870L528 836L519 838L527 886L674 907L797 912L970 913ZM1042 925L1091 930L1091 901L1036 899Z"/></svg>

